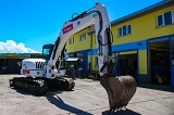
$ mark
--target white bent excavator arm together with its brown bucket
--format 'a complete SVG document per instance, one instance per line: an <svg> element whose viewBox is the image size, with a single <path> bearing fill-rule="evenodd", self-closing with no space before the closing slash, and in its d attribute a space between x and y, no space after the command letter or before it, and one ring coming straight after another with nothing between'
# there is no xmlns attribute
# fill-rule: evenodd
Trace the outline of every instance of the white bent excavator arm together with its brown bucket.
<svg viewBox="0 0 174 115"><path fill-rule="evenodd" d="M47 64L47 78L55 77L58 72L55 62L70 37L92 24L95 24L96 30L100 84L108 92L110 111L112 112L128 104L136 92L136 81L128 75L112 75L111 25L107 10L101 3L96 3L92 9L65 22Z"/></svg>

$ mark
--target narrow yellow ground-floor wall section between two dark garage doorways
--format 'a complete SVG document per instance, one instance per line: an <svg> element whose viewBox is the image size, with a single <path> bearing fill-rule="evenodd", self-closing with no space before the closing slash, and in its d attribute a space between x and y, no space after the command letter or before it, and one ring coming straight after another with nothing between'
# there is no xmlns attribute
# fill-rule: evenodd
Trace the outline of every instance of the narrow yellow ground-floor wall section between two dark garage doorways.
<svg viewBox="0 0 174 115"><path fill-rule="evenodd" d="M147 74L147 50L138 51L139 74Z"/></svg>

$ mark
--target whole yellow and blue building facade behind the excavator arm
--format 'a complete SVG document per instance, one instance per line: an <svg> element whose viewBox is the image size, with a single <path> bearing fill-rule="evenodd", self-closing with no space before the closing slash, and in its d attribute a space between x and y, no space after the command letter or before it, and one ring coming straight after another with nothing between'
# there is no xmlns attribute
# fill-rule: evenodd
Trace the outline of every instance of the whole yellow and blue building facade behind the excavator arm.
<svg viewBox="0 0 174 115"><path fill-rule="evenodd" d="M115 12L116 13L116 12ZM174 87L174 2L164 0L111 22L112 51L119 73L137 82ZM82 58L82 67L98 71L94 26L73 35L69 56Z"/></svg>

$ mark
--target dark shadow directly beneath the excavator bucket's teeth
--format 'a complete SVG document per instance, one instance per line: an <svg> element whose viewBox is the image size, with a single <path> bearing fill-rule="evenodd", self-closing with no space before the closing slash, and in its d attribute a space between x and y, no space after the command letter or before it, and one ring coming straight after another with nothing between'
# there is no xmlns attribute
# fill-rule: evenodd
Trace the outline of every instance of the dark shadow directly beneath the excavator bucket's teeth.
<svg viewBox="0 0 174 115"><path fill-rule="evenodd" d="M102 112L102 115L140 115L140 114L126 108L126 110L115 111L112 113L110 113L110 111L104 111Z"/></svg>

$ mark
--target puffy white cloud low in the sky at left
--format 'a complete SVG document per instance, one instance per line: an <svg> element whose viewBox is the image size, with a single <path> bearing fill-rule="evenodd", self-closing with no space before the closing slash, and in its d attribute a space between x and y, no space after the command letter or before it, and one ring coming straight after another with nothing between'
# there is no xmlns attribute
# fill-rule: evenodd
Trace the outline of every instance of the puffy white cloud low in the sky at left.
<svg viewBox="0 0 174 115"><path fill-rule="evenodd" d="M40 53L30 48L26 48L24 43L16 43L13 40L0 41L0 53Z"/></svg>

